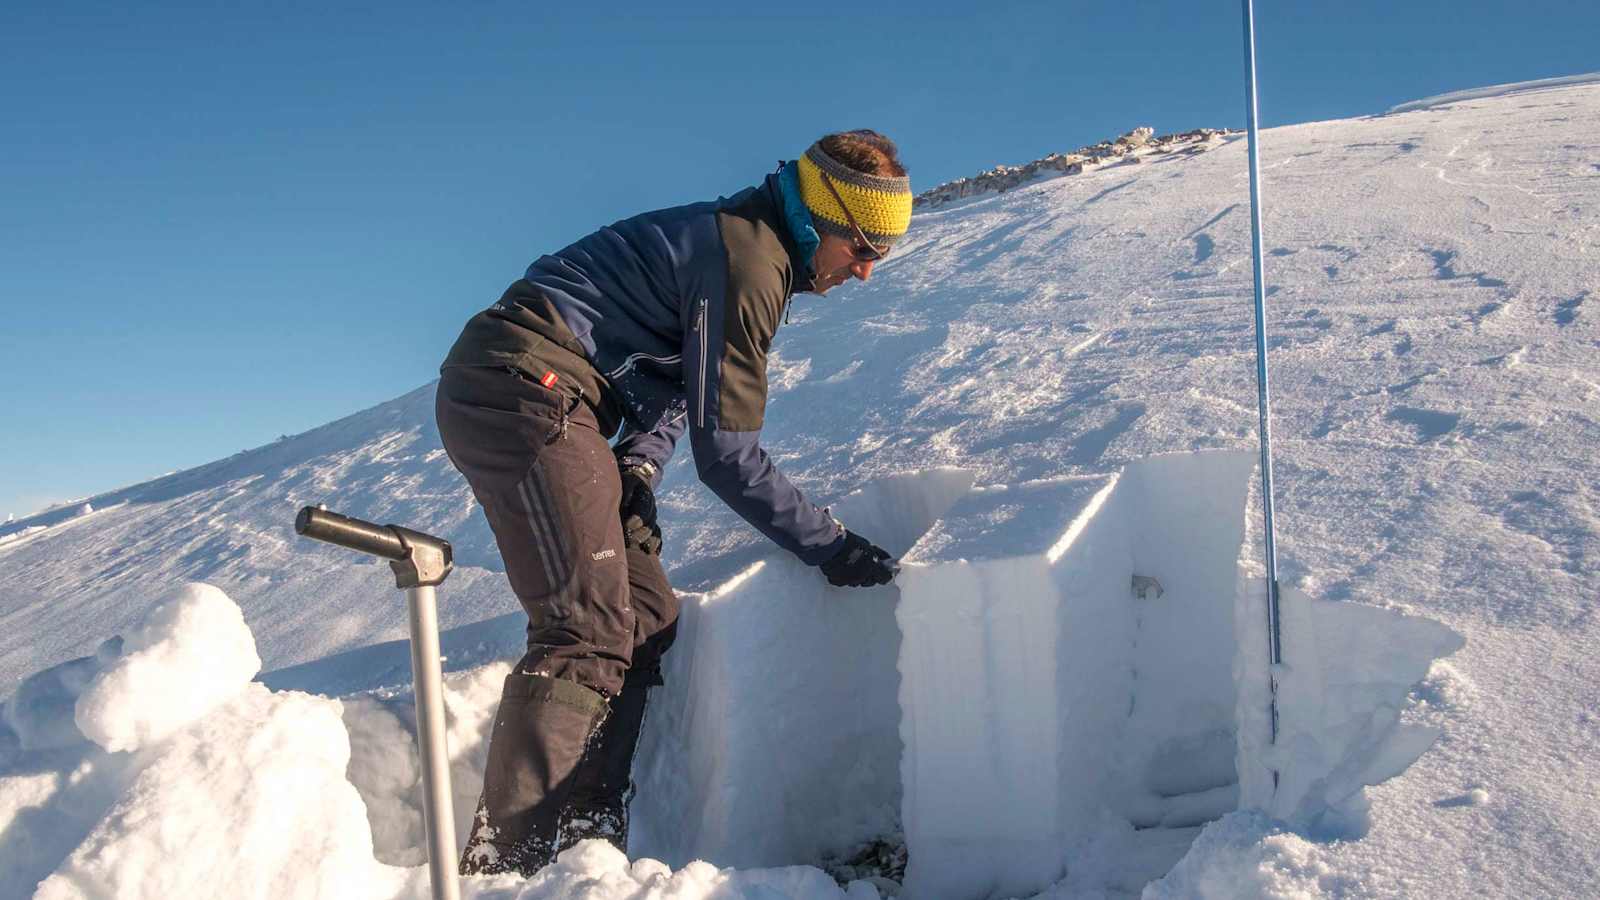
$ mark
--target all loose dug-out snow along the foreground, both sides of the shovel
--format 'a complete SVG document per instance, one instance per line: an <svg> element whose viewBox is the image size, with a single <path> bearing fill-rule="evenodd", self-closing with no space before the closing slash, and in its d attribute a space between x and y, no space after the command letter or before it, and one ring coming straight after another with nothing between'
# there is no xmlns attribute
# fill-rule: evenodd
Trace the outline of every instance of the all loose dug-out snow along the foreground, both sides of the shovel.
<svg viewBox="0 0 1600 900"><path fill-rule="evenodd" d="M341 701L253 684L250 629L206 585L184 586L102 647L26 679L5 705L0 898L427 895L408 695ZM501 663L446 681L461 836L506 671ZM464 887L494 900L878 897L866 882L846 894L803 866L629 865L598 841L533 881Z"/></svg>

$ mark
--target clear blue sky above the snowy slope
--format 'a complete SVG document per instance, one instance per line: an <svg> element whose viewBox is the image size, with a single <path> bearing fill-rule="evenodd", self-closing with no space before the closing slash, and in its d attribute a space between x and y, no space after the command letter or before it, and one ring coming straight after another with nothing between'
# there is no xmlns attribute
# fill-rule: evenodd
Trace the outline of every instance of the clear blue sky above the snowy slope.
<svg viewBox="0 0 1600 900"><path fill-rule="evenodd" d="M1592 2L1264 3L1262 123L1600 69L1595 34ZM0 519L406 392L538 255L830 130L920 191L1243 127L1240 46L1230 0L8 3Z"/></svg>

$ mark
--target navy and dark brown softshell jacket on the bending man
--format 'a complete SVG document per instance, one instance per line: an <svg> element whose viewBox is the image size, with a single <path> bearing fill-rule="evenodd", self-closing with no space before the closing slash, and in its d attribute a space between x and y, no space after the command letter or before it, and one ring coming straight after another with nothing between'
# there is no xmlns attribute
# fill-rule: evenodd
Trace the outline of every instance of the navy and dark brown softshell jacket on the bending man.
<svg viewBox="0 0 1600 900"><path fill-rule="evenodd" d="M467 323L445 367L566 376L602 412L602 429L621 420L624 463L661 471L686 431L701 480L819 565L843 546L843 530L760 444L766 352L789 298L811 285L787 224L808 216L795 207L773 175L733 197L602 227L528 266Z"/></svg>

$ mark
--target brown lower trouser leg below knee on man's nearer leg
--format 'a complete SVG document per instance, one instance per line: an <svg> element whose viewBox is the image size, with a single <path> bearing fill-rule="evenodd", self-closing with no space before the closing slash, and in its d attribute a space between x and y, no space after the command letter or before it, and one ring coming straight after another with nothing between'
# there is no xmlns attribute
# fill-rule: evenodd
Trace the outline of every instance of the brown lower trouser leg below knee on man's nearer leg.
<svg viewBox="0 0 1600 900"><path fill-rule="evenodd" d="M461 874L530 878L555 858L562 809L605 713L605 697L576 682L506 676Z"/></svg>

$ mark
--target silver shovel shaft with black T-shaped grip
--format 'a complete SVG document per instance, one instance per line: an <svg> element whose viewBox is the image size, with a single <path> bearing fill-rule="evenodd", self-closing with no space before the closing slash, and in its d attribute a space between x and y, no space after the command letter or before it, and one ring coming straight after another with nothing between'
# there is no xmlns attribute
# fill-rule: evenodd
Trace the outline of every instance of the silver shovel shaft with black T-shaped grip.
<svg viewBox="0 0 1600 900"><path fill-rule="evenodd" d="M422 753L422 828L434 900L458 900L456 817L450 802L450 754L445 748L445 693L438 671L438 604L434 586L453 564L450 541L307 506L294 532L360 552L381 556L405 588L411 618L411 682L416 692L416 741Z"/></svg>

